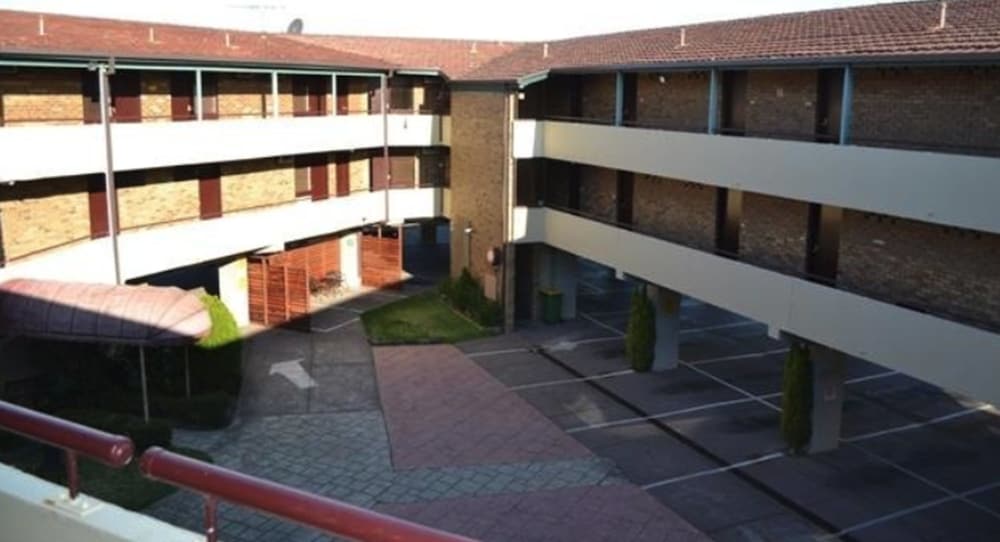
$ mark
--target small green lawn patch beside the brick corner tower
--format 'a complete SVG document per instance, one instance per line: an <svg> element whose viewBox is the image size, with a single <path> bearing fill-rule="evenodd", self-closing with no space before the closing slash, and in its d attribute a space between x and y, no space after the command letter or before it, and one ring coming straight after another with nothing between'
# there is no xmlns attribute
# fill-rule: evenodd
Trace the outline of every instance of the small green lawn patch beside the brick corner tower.
<svg viewBox="0 0 1000 542"><path fill-rule="evenodd" d="M489 335L455 312L437 292L428 292L361 315L373 344L456 343Z"/></svg>

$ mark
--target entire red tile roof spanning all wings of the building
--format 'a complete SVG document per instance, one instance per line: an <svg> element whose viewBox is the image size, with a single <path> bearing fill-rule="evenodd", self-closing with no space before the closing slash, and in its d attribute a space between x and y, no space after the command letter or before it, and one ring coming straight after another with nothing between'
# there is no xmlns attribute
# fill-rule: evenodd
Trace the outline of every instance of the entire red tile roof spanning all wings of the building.
<svg viewBox="0 0 1000 542"><path fill-rule="evenodd" d="M389 69L437 68L452 79L513 81L554 69L763 62L1000 59L1000 1L925 0L772 15L543 43L288 36L2 11L0 53L30 52ZM154 29L155 41L149 32ZM230 37L226 46L225 37ZM684 44L681 44L681 36ZM547 54L546 54L547 53Z"/></svg>

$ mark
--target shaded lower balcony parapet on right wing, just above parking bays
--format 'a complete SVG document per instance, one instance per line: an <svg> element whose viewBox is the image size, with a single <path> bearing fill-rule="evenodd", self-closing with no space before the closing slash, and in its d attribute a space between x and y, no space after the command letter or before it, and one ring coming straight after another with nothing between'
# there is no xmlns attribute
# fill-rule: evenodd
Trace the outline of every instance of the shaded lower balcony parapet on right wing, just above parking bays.
<svg viewBox="0 0 1000 542"><path fill-rule="evenodd" d="M804 278L546 208L515 209L515 239L544 243L849 355L998 402L1000 335ZM956 357L955 352L962 352Z"/></svg>

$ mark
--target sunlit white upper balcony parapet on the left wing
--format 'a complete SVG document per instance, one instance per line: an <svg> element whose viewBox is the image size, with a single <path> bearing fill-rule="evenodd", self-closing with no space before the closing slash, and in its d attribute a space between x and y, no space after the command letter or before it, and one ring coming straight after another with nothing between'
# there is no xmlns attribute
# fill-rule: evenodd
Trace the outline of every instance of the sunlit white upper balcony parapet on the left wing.
<svg viewBox="0 0 1000 542"><path fill-rule="evenodd" d="M121 123L111 128L116 170L248 160L381 147L382 116L338 115ZM448 117L388 115L393 147L448 145ZM47 154L44 149L53 149ZM23 126L0 130L0 182L100 173L103 127Z"/></svg>

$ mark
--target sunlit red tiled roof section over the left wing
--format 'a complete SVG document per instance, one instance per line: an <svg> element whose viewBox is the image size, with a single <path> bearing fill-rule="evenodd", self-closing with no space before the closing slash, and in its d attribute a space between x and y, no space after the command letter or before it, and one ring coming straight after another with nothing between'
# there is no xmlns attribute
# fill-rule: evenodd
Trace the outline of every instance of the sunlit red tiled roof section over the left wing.
<svg viewBox="0 0 1000 542"><path fill-rule="evenodd" d="M40 20L44 34L40 34ZM272 65L380 69L386 62L259 34L160 23L0 10L0 53L116 56ZM228 36L228 43L227 43Z"/></svg>

